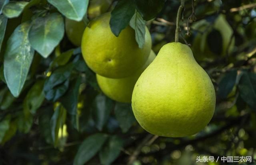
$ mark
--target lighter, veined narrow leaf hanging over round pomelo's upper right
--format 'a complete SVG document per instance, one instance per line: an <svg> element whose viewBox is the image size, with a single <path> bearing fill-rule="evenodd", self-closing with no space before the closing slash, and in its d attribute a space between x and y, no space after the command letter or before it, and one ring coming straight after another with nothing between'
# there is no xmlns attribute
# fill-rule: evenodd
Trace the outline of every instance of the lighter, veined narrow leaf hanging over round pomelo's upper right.
<svg viewBox="0 0 256 165"><path fill-rule="evenodd" d="M130 26L135 30L135 39L142 49L145 43L146 21L142 19L140 13L135 12L130 21Z"/></svg>

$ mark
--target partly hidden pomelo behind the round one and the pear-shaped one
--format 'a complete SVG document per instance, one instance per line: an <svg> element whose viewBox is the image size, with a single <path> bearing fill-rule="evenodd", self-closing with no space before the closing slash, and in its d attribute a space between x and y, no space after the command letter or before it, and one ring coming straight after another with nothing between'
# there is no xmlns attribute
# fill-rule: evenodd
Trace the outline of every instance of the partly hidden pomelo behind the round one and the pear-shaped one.
<svg viewBox="0 0 256 165"><path fill-rule="evenodd" d="M150 65L150 63L154 60L155 57L156 54L151 51L146 63L132 76L129 77L121 79L111 79L97 74L96 78L100 89L112 100L127 103L132 102L132 91L136 81L140 77L141 73L146 69L146 67L148 67L148 65Z"/></svg>

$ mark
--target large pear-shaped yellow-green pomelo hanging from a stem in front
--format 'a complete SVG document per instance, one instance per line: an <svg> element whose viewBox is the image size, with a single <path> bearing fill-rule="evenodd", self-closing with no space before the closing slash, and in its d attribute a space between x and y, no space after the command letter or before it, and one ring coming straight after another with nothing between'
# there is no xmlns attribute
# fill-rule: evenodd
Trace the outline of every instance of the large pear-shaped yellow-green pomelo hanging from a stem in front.
<svg viewBox="0 0 256 165"><path fill-rule="evenodd" d="M210 122L215 104L210 77L182 43L164 45L132 93L136 120L158 136L196 134Z"/></svg>

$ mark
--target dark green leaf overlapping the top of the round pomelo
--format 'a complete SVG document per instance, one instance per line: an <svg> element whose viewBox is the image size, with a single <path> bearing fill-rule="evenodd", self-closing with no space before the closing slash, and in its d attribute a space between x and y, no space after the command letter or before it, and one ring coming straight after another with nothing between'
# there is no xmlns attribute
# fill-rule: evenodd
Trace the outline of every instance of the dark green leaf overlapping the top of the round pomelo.
<svg viewBox="0 0 256 165"><path fill-rule="evenodd" d="M135 12L135 6L132 0L119 0L111 12L110 28L112 33L118 37L122 29L128 26Z"/></svg>

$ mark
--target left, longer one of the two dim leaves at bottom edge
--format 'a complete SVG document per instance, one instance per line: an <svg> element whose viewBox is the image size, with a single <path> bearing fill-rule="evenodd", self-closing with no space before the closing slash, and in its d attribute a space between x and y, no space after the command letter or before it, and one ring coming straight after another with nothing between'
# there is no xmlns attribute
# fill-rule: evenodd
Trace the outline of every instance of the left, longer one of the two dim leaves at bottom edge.
<svg viewBox="0 0 256 165"><path fill-rule="evenodd" d="M73 165L84 165L100 150L107 138L105 134L94 134L86 138L76 153Z"/></svg>

